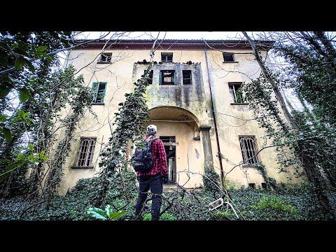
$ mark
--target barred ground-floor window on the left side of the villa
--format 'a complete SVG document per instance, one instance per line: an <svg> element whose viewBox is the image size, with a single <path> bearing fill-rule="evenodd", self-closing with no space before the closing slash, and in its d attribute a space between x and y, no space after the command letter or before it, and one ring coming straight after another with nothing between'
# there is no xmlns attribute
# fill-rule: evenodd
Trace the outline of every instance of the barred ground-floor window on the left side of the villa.
<svg viewBox="0 0 336 252"><path fill-rule="evenodd" d="M77 167L92 167L95 137L80 137L80 147L77 158Z"/></svg>

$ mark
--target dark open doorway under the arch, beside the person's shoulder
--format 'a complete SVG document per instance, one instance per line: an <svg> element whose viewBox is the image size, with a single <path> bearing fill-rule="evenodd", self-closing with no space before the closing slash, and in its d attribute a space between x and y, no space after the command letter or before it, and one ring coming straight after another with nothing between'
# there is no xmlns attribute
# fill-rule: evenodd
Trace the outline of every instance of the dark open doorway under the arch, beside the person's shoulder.
<svg viewBox="0 0 336 252"><path fill-rule="evenodd" d="M165 145L167 155L168 176L169 181L167 184L176 182L176 141L175 136L161 136L160 139Z"/></svg>

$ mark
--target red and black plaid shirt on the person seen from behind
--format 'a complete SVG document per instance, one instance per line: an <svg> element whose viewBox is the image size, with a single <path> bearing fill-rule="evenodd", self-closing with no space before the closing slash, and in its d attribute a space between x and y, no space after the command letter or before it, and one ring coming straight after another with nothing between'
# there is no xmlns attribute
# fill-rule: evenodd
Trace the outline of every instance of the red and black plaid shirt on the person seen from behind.
<svg viewBox="0 0 336 252"><path fill-rule="evenodd" d="M144 139L145 140L145 139ZM146 140L145 140L146 141ZM137 172L137 176L153 176L161 173L162 176L168 174L167 156L165 146L161 139L155 139L151 144L151 152L153 155L153 168L149 172Z"/></svg>

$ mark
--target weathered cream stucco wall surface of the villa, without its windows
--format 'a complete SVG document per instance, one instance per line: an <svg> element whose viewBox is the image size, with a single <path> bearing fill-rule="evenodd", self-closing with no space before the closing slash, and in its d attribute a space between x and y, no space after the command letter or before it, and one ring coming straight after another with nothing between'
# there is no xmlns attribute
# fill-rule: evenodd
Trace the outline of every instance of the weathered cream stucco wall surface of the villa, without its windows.
<svg viewBox="0 0 336 252"><path fill-rule="evenodd" d="M73 64L76 69L81 69L78 74L83 74L88 86L91 87L95 81L104 81L107 82L107 89L104 104L94 104L92 106L97 118L87 111L85 117L80 121L76 131L76 141L71 146L71 154L64 165L64 177L59 192L63 195L70 187L76 184L78 179L97 174L101 144L106 143L111 135L111 130L113 130L113 127L109 124L109 122L113 121L113 113L118 111L118 104L125 101L124 94L132 92L133 83L137 78L140 78L148 66L146 64L134 64L134 62L142 61L143 59L148 61L150 58L149 50L107 50L106 52L113 53L113 64L97 64L99 50L73 50L69 54L68 65ZM154 109L158 106L181 107L193 113L198 126L210 126L214 168L220 174L214 117L213 111L211 111L211 85L219 144L221 153L224 156L222 160L224 172L228 172L233 167L233 163L238 164L242 160L239 135L254 135L257 139L258 148L262 148L263 130L258 127L257 122L250 120L245 123L244 120L223 115L224 113L237 118L252 118L253 111L248 111L248 105L230 104L228 82L247 82L249 78L258 77L260 72L258 71L258 64L253 61L253 55L235 55L235 60L238 63L223 63L221 52L207 50L207 65L204 50L158 50L155 52L155 61L160 62L161 52L173 52L173 62L191 61L199 62L200 64L155 64L153 66L153 84L148 87L146 93L149 109ZM232 50L232 52L235 52L235 50ZM251 51L239 50L239 52ZM210 70L209 75L208 68ZM160 69L175 69L178 80L181 79L182 69L190 69L193 75L193 85L182 85L180 81L178 85L159 85L158 73ZM193 140L195 131L186 123L156 122L155 125L158 126L159 136L174 135L176 136L176 142L179 142L179 146L176 148L178 172L189 168L202 173L204 162L203 147L201 141ZM199 134L199 132L196 133ZM95 169L71 168L76 164L80 137L97 137L93 158ZM290 182L286 179L288 174L279 174L276 154L272 148L263 150L259 158L265 165L267 174L276 179L277 182L300 182L300 180L295 178ZM180 175L180 180L183 183L186 182L186 174ZM227 179L230 179L237 186L247 186L248 183L256 183L256 186L260 186L262 182L261 174L251 167L237 167L228 174ZM187 185L188 187L194 187L200 186L200 183L202 183L201 176L192 176Z"/></svg>

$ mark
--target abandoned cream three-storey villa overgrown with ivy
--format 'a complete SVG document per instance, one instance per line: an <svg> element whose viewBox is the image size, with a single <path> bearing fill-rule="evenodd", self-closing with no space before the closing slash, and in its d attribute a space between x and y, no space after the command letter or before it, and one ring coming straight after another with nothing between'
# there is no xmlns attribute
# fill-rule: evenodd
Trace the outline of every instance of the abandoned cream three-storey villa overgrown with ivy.
<svg viewBox="0 0 336 252"><path fill-rule="evenodd" d="M146 91L147 123L157 125L157 137L165 144L170 180L165 187L176 182L186 188L202 188L204 169L223 176L243 163L225 181L237 188L264 188L262 174L253 167L258 162L276 183L301 183L293 174L279 172L274 148L260 151L264 130L250 120L253 111L239 90L242 83L260 75L251 47L246 41L207 43L165 40L155 50ZM256 43L265 57L272 41ZM64 65L82 69L78 74L92 87L92 111L97 117L87 111L80 120L64 165L60 195L79 179L99 173L99 153L113 131L114 113L147 69L152 46L151 40L93 41L69 52ZM128 158L133 150L130 143Z"/></svg>

